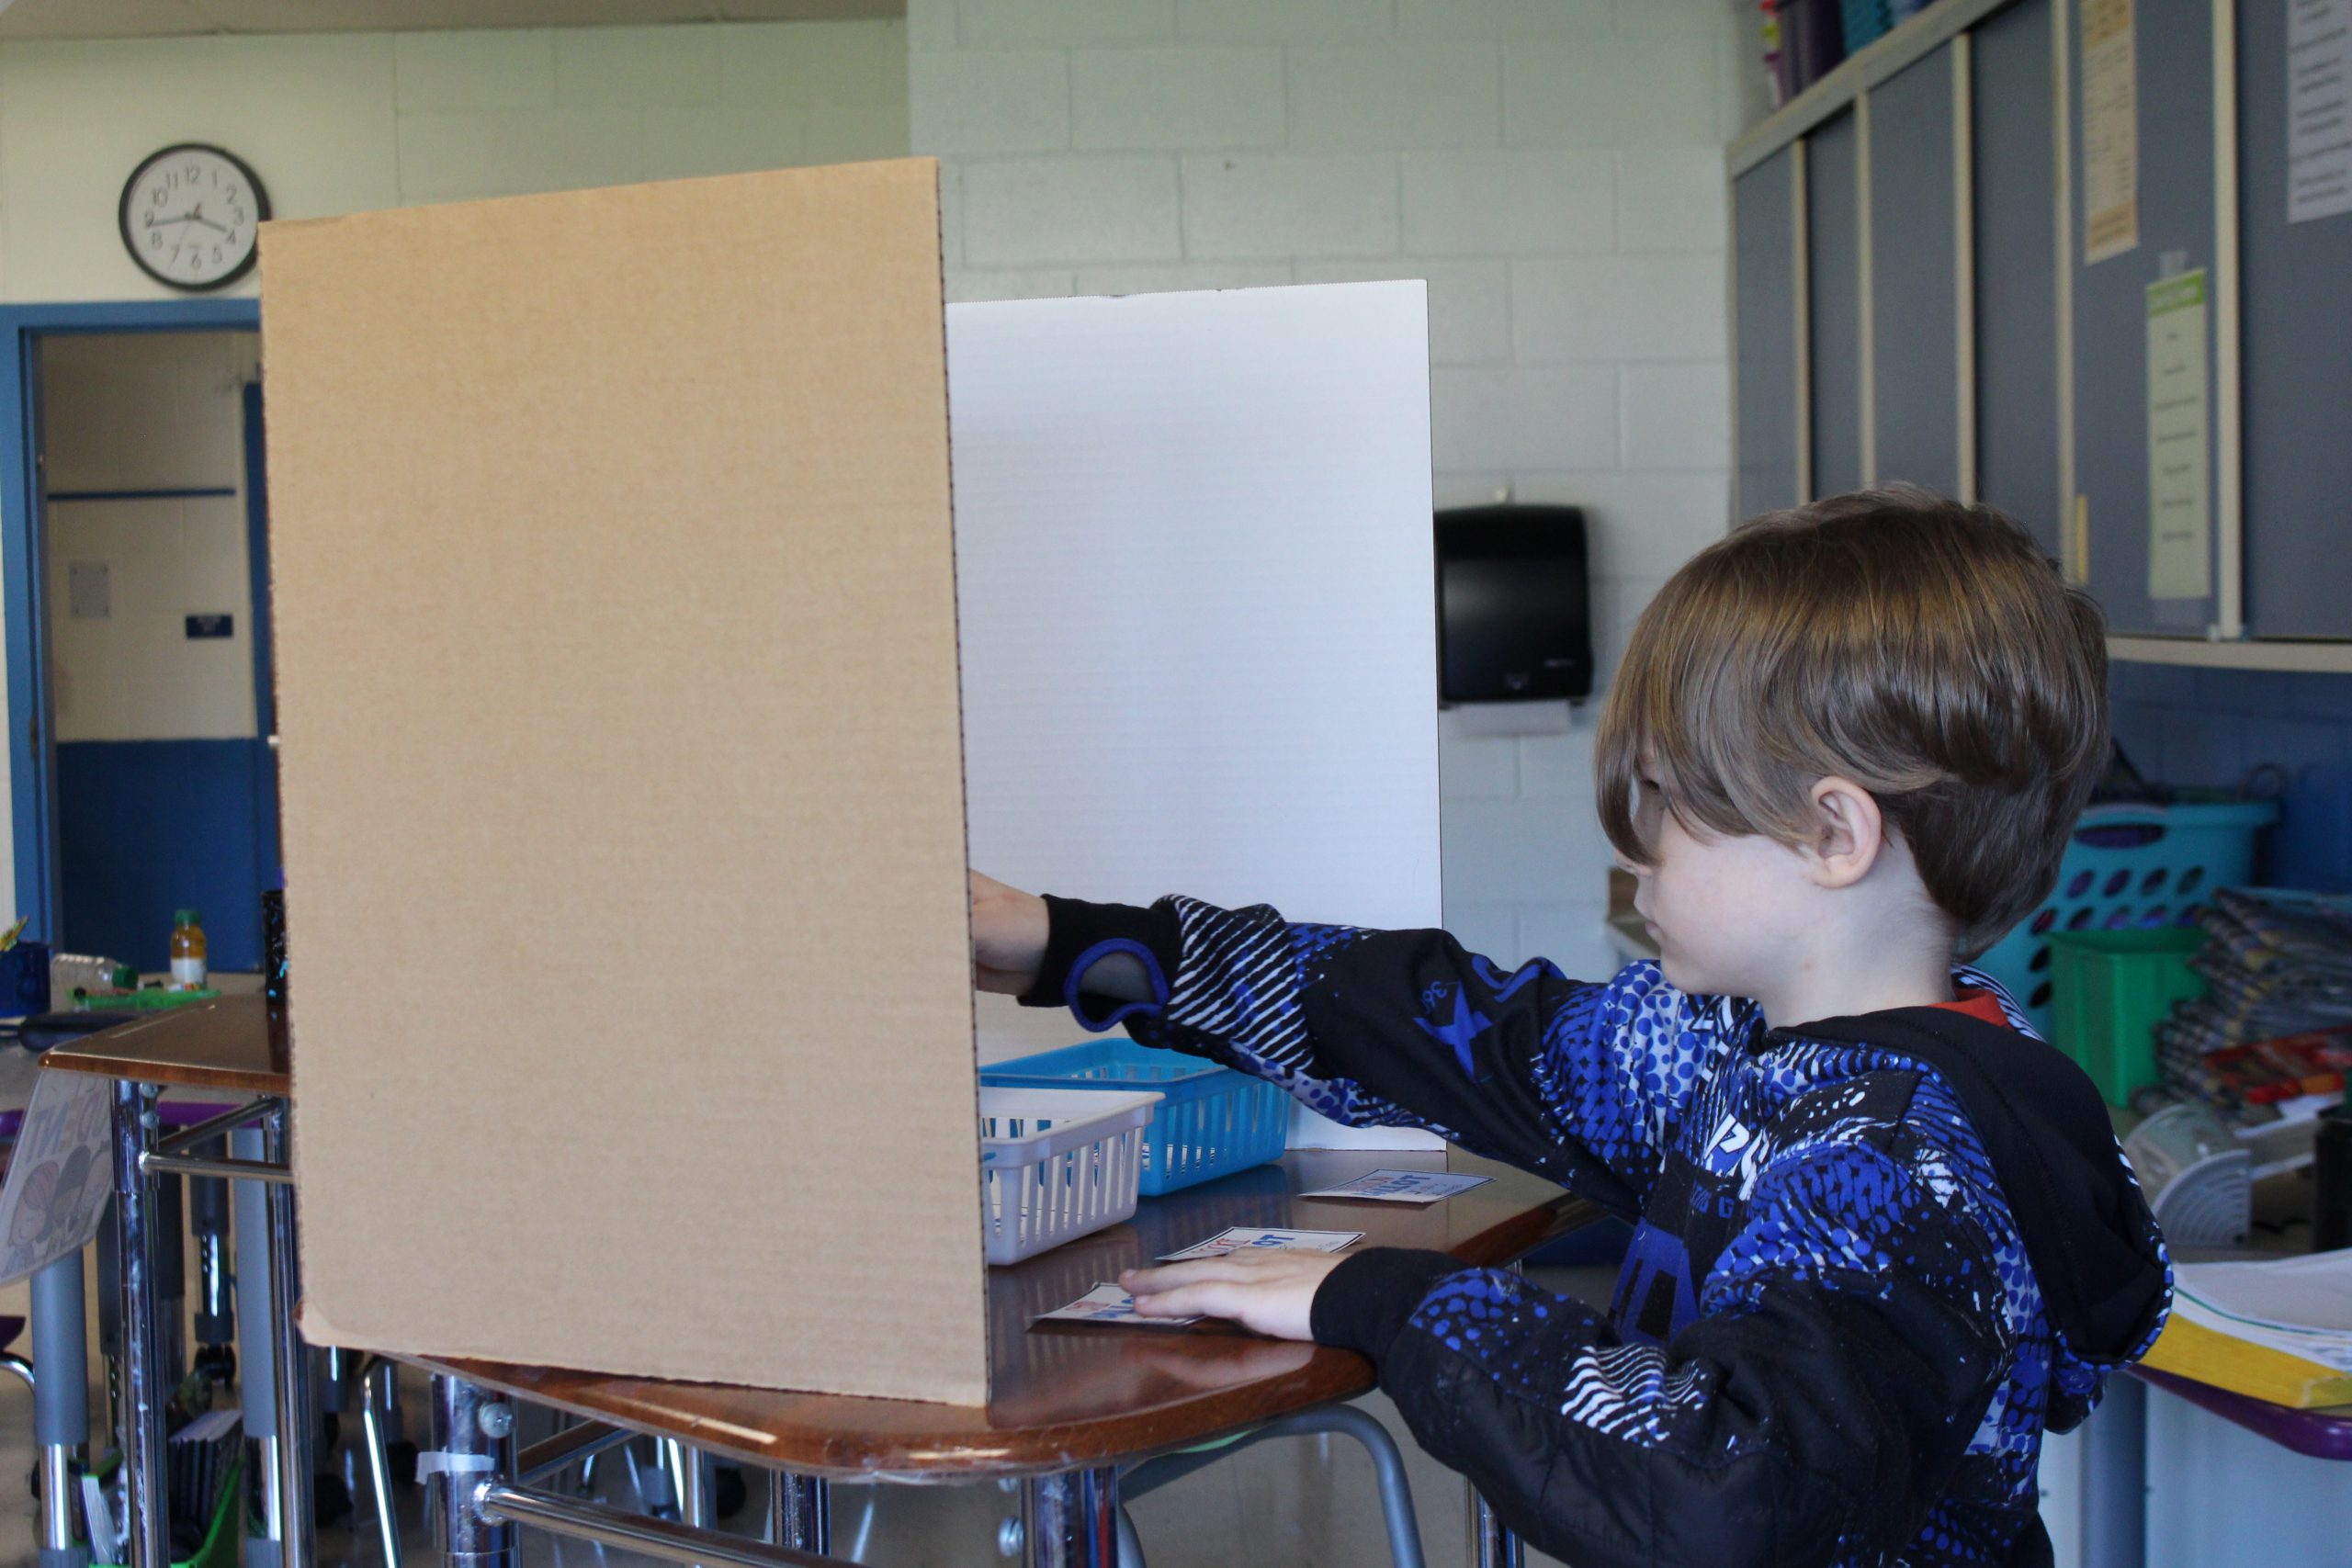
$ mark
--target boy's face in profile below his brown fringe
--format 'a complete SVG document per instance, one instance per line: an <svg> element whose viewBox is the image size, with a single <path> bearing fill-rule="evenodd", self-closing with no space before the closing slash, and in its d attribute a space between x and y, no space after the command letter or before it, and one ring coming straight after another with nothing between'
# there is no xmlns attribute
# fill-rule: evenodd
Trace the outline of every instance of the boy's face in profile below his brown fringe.
<svg viewBox="0 0 2352 1568"><path fill-rule="evenodd" d="M1665 983L1717 997L1778 990L1797 924L1816 917L1804 856L1764 835L1684 825L1646 769L1639 790L1635 825L1651 863L1621 865L1639 882L1632 907L1658 943Z"/></svg>

